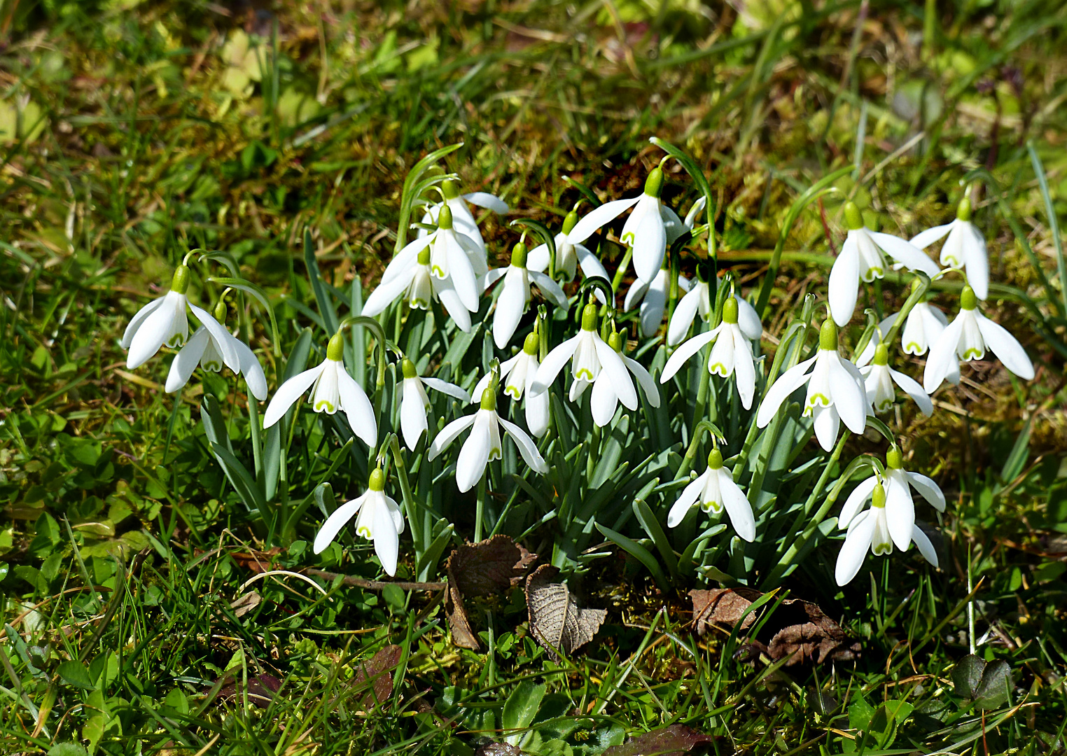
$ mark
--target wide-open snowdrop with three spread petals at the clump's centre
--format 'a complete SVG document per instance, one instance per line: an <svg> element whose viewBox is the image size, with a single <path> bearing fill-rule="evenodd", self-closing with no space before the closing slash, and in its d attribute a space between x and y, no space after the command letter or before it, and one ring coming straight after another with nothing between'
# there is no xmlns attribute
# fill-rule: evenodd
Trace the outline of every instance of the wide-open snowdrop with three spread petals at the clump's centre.
<svg viewBox="0 0 1067 756"><path fill-rule="evenodd" d="M626 371L626 364L596 333L596 305L593 303L587 304L582 310L582 329L578 335L548 352L541 363L537 376L530 384L530 393L547 391L568 360L571 360L571 376L574 379L570 391L572 402L577 401L582 392L605 370L622 405L627 409L637 409L637 389Z"/></svg>

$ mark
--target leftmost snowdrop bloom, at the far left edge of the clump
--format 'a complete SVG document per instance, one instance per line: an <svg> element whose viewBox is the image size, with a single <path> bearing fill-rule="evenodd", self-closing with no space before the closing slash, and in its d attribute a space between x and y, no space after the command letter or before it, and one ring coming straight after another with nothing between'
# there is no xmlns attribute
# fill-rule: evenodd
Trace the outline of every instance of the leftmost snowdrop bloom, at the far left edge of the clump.
<svg viewBox="0 0 1067 756"><path fill-rule="evenodd" d="M176 349L186 343L189 338L189 318L186 315L188 307L219 345L225 366L235 373L241 371L240 354L232 338L227 338L227 331L207 310L201 309L186 296L189 276L189 268L184 263L178 266L171 279L171 290L138 310L126 326L120 343L123 349L129 350L126 367L130 370L140 368L152 359L163 344Z"/></svg>

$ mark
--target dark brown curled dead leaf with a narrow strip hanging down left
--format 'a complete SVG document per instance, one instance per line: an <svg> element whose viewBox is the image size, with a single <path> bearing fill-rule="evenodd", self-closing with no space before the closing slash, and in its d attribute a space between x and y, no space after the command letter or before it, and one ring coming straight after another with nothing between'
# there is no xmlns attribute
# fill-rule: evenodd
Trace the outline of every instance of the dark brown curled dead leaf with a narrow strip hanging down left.
<svg viewBox="0 0 1067 756"><path fill-rule="evenodd" d="M527 567L537 559L508 535L494 535L476 544L464 544L448 557L445 569L445 615L452 642L461 648L478 650L481 644L471 627L464 597L489 596L519 584Z"/></svg>

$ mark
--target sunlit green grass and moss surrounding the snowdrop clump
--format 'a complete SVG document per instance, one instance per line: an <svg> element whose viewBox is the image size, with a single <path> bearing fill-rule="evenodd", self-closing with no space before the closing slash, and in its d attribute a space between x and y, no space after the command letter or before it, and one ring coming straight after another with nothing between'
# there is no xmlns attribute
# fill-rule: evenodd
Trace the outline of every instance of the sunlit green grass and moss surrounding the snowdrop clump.
<svg viewBox="0 0 1067 756"><path fill-rule="evenodd" d="M924 17L921 3L879 3L863 6L859 33L858 2L782 16L750 4L742 18L681 1L341 2L276 17L121 4L0 3L0 752L467 754L519 727L529 753L596 754L675 723L714 736L719 754L1064 749L1067 329L1049 220L1067 208L1062 4L931 5ZM246 22L259 43L227 62L223 42ZM602 195L635 190L662 155L651 135L695 156L722 197L720 259L746 287L796 196L837 168L857 170L823 200L833 229L844 195L903 235L944 222L965 176L982 182L976 219L1001 285L987 309L1040 370L1024 384L985 363L938 395L951 406L933 419L892 420L909 465L949 496L942 569L896 554L839 590L826 580L835 549L819 546L783 586L862 652L783 669L744 633L698 638L686 592L702 583L657 584L608 544L571 575L608 609L605 627L559 662L530 636L521 589L468 601L484 654L451 644L440 592L319 579L323 596L284 575L246 584L257 560L368 579L377 567L362 541L310 553L314 501L291 543L267 550L272 533L201 424L201 400L214 397L252 466L228 380L174 401L159 360L125 370L117 339L182 255L224 251L268 290L280 351L251 299L240 318L273 379L308 313L323 312L305 231L325 283L368 291L392 254L403 176L426 152L462 141L444 163L466 187L555 227L580 196L562 176ZM678 172L665 196L687 206L696 190ZM832 258L817 209L784 239L771 334L824 290ZM492 216L483 234L501 255L516 238ZM220 293L206 282L220 268L194 272L202 302ZM895 311L895 283L861 306ZM316 424L300 433L293 504L335 463L333 492L354 496L366 457ZM474 534L469 515L453 522L444 556ZM443 559L417 574L403 537L400 574L444 579ZM525 543L551 554L555 538L550 526ZM969 607L978 656L1012 673L1007 699L981 710L956 681ZM760 611L773 627L784 610Z"/></svg>

